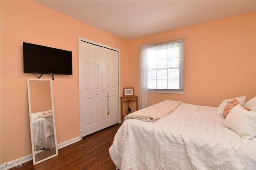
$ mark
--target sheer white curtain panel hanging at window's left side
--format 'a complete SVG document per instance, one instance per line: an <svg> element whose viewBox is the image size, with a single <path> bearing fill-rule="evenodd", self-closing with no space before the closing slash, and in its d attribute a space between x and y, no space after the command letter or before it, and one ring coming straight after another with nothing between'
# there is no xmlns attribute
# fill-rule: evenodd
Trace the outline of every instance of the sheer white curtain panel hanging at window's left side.
<svg viewBox="0 0 256 170"><path fill-rule="evenodd" d="M139 57L139 109L152 105L152 93L148 89L148 52L154 45L140 46Z"/></svg>

